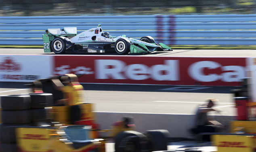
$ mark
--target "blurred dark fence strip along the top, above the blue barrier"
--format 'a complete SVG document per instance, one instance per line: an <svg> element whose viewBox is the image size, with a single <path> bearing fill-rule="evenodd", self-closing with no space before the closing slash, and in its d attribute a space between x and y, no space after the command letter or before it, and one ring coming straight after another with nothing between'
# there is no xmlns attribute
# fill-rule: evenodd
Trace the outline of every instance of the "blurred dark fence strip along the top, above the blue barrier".
<svg viewBox="0 0 256 152"><path fill-rule="evenodd" d="M0 0L0 16L256 14L256 0Z"/></svg>

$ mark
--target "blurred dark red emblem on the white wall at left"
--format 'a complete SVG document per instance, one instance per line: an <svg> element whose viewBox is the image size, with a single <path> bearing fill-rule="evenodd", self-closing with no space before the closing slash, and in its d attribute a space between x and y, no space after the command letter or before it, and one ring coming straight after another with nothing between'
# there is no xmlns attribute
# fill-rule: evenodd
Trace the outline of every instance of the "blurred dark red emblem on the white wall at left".
<svg viewBox="0 0 256 152"><path fill-rule="evenodd" d="M21 63L15 62L13 57L4 57L0 62L0 71L3 72L20 72Z"/></svg>

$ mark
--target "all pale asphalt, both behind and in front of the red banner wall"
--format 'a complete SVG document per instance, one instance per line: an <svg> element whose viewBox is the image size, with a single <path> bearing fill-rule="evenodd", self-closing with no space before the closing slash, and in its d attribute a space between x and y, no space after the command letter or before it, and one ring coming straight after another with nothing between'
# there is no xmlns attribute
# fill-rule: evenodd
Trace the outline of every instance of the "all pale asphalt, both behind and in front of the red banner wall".
<svg viewBox="0 0 256 152"><path fill-rule="evenodd" d="M43 49L0 49L0 54L54 55L53 53L44 53ZM73 55L73 53L70 54ZM256 51L183 49L174 50L171 52L157 52L146 55L254 57L256 56ZM226 111L228 115L235 115L236 113L231 90L237 89L238 87L117 84L83 84L83 86L85 89L84 99L88 103L96 103L95 111L193 114L196 106L203 104L205 99L216 98L220 101L216 107ZM23 83L0 83L0 95L21 94L27 92L29 92L29 90L23 86Z"/></svg>

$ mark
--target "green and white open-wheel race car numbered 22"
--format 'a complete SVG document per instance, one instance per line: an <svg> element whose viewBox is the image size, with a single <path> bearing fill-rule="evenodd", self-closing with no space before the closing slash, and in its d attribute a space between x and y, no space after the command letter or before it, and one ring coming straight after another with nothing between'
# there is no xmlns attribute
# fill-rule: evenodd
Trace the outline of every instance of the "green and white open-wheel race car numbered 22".
<svg viewBox="0 0 256 152"><path fill-rule="evenodd" d="M44 52L63 54L65 52L84 53L150 53L153 51L172 51L163 43L155 43L150 36L141 37L140 40L122 35L111 36L103 32L101 25L77 34L76 27L63 29L47 29L43 34Z"/></svg>

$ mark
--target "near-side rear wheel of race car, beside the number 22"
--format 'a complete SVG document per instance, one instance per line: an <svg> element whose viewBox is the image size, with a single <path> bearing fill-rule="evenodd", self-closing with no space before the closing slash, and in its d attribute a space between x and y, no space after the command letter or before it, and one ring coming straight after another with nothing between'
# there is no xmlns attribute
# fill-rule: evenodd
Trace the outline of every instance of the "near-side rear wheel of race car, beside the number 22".
<svg viewBox="0 0 256 152"><path fill-rule="evenodd" d="M52 41L52 51L56 54L63 54L66 51L66 43L60 37L56 37Z"/></svg>

